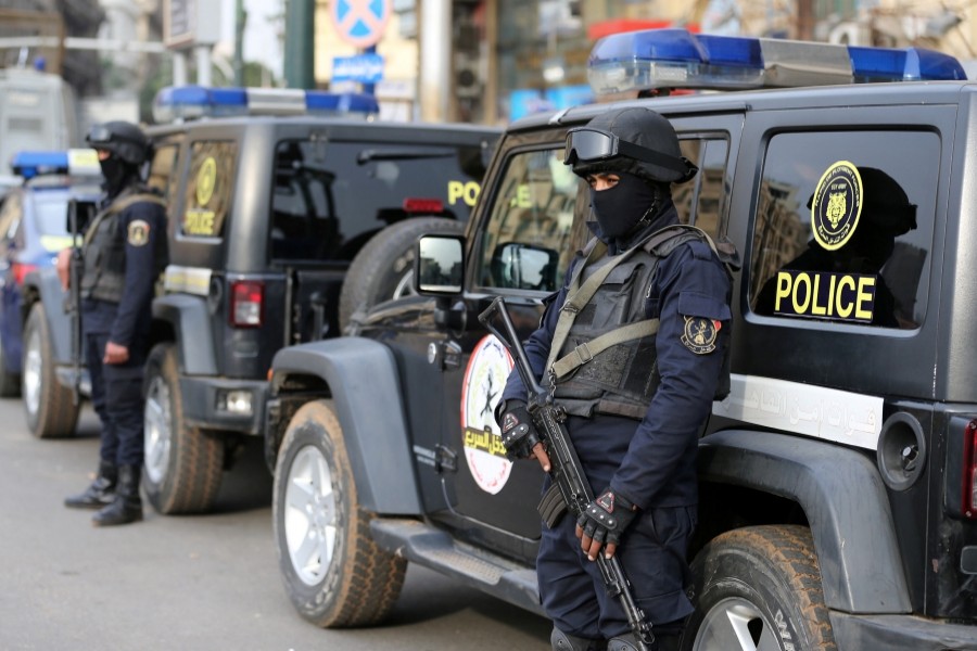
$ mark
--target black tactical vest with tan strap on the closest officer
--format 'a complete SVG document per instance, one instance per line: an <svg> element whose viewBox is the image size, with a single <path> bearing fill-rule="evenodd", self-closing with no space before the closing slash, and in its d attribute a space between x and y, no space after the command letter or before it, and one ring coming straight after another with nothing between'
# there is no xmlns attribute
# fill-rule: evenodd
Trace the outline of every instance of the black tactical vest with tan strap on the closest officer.
<svg viewBox="0 0 977 651"><path fill-rule="evenodd" d="M618 256L592 240L571 278L547 369L554 398L568 413L610 413L640 420L661 382L655 335L658 319L645 318L645 301L661 260L685 242L712 240L701 230L665 227ZM721 257L722 259L722 257ZM728 391L728 347L724 360Z"/></svg>

